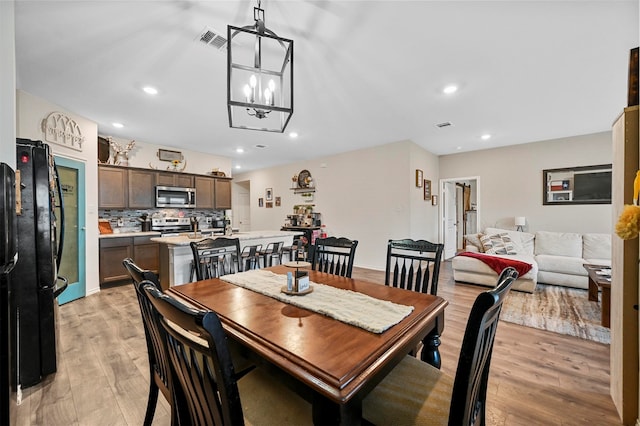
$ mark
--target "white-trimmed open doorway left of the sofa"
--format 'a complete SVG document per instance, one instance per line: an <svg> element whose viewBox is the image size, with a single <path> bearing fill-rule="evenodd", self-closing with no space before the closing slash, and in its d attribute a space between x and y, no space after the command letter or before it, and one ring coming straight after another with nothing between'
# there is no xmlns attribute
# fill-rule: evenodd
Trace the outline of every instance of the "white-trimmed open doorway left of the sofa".
<svg viewBox="0 0 640 426"><path fill-rule="evenodd" d="M464 235L478 232L480 218L480 177L440 180L440 235L445 259L464 249Z"/></svg>

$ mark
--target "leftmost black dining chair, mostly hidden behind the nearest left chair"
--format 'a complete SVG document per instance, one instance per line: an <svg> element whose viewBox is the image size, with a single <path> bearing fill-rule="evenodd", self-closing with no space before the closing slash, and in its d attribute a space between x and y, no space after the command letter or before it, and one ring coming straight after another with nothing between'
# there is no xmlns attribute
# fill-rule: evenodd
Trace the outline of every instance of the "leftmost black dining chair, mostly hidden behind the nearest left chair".
<svg viewBox="0 0 640 426"><path fill-rule="evenodd" d="M171 404L171 377L169 374L169 359L160 340L158 330L150 319L148 307L145 306L145 296L140 292L139 284L143 281L152 283L158 290L161 290L158 276L151 271L140 268L135 262L126 258L122 264L133 280L133 287L136 290L138 305L142 315L142 325L144 337L147 341L147 356L149 358L149 398L147 400L147 410L144 416L144 425L149 426L153 422L156 406L158 404L158 391L162 392L167 402ZM171 424L178 423L178 413L171 409Z"/></svg>

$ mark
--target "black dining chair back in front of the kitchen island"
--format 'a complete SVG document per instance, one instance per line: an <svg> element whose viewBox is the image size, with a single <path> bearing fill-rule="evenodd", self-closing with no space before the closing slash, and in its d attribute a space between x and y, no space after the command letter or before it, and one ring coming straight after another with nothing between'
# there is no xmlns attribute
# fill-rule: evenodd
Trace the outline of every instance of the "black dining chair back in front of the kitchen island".
<svg viewBox="0 0 640 426"><path fill-rule="evenodd" d="M238 238L205 238L192 241L190 246L193 254L192 272L195 271L198 281L217 278L240 270ZM190 279L193 280L193 273Z"/></svg>

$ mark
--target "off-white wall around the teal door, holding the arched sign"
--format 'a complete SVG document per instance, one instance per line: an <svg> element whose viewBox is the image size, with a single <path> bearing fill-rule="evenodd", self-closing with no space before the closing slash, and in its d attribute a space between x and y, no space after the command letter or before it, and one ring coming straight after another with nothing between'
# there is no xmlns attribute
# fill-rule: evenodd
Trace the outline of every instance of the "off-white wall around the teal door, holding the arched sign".
<svg viewBox="0 0 640 426"><path fill-rule="evenodd" d="M85 137L82 151L49 143L55 155L85 163L86 279L87 295L100 291L98 277L98 125L58 105L22 90L17 91L17 137L42 140L42 120L59 111L75 120ZM15 146L15 142L13 143Z"/></svg>

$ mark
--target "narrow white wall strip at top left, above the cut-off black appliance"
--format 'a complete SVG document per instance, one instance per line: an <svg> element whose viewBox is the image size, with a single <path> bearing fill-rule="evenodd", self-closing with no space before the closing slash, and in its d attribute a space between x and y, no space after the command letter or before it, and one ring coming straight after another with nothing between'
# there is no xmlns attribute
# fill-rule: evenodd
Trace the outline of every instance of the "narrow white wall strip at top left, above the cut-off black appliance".
<svg viewBox="0 0 640 426"><path fill-rule="evenodd" d="M14 2L0 1L0 162L16 168Z"/></svg>

